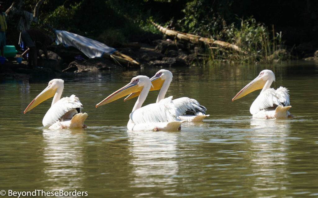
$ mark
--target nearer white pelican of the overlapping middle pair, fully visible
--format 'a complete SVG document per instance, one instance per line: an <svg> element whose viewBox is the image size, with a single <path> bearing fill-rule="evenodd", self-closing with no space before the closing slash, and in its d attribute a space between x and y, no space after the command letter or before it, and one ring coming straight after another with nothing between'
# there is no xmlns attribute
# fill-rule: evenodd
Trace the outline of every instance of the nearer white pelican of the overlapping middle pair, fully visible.
<svg viewBox="0 0 318 198"><path fill-rule="evenodd" d="M129 115L127 124L128 130L131 131L176 131L181 123L177 119L176 108L171 102L171 98L162 100L159 103L153 103L142 106L145 101L150 87L151 81L147 76L136 76L130 83L121 89L110 94L102 100L96 107L105 105L130 93L140 92L132 112Z"/></svg>

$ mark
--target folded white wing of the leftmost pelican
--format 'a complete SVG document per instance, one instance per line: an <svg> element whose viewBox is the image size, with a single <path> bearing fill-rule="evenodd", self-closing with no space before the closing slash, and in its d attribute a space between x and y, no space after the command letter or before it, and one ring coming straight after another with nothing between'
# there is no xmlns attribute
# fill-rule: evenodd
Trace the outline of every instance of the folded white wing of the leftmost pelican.
<svg viewBox="0 0 318 198"><path fill-rule="evenodd" d="M61 98L46 112L42 124L48 127L58 121L70 120L75 114L81 112L82 108L82 103L75 95Z"/></svg>

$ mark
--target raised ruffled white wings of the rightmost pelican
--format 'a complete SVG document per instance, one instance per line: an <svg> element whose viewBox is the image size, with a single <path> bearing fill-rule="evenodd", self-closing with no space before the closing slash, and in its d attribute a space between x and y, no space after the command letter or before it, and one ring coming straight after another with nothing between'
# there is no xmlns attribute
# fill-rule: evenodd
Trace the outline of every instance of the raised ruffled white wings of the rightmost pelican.
<svg viewBox="0 0 318 198"><path fill-rule="evenodd" d="M289 94L285 87L280 87L277 90L274 88L266 89L263 93L254 100L250 107L250 112L252 115L258 113L261 110L266 110L268 108L277 106L287 106L289 105Z"/></svg>

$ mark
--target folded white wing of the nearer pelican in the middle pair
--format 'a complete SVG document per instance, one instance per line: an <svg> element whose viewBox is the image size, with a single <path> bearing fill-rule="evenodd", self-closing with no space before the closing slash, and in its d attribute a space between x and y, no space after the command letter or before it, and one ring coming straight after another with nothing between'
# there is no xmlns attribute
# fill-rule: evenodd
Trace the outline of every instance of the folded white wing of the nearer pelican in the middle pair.
<svg viewBox="0 0 318 198"><path fill-rule="evenodd" d="M131 112L129 118L135 125L179 121L176 118L176 106L172 103L171 99L172 96L162 99L158 103L143 106L134 112Z"/></svg>

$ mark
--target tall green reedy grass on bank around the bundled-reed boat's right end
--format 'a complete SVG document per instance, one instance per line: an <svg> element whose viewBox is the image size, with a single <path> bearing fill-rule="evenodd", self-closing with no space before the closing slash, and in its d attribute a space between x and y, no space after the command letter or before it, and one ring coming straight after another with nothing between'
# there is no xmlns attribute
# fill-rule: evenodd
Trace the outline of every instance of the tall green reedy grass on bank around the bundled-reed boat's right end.
<svg viewBox="0 0 318 198"><path fill-rule="evenodd" d="M199 32L199 31L197 31ZM221 40L239 46L242 52L225 49L219 46L205 45L205 54L208 57L204 64L235 63L248 64L256 62L274 62L288 59L285 49L282 49L282 35L269 30L264 24L256 23L255 19L241 19L241 25L236 28L234 23L224 26L219 32L206 37Z"/></svg>

